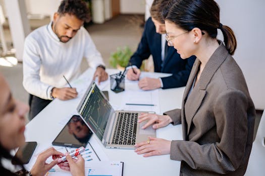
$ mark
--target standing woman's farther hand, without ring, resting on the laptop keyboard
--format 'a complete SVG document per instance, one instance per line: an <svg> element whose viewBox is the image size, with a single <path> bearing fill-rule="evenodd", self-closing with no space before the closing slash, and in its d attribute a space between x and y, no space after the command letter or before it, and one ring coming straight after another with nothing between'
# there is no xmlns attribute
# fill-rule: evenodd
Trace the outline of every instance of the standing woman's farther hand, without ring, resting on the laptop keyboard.
<svg viewBox="0 0 265 176"><path fill-rule="evenodd" d="M153 129L165 127L173 120L168 115L157 115L157 114L148 114L148 113L141 113L141 115L138 117L138 123L141 123L143 121L147 121L147 123L142 127L142 129L147 128L151 124L153 124Z"/></svg>

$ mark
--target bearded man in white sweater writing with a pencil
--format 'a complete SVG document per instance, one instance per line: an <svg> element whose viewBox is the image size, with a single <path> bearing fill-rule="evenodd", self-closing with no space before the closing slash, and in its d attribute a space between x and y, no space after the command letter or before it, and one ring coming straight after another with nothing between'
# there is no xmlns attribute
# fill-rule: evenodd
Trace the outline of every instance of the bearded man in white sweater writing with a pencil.
<svg viewBox="0 0 265 176"><path fill-rule="evenodd" d="M82 0L64 0L53 21L25 39L23 86L30 94L30 120L54 98L77 97L63 75L70 81L77 78L83 58L95 69L93 79L108 79L102 57L83 27L88 20L89 11Z"/></svg>

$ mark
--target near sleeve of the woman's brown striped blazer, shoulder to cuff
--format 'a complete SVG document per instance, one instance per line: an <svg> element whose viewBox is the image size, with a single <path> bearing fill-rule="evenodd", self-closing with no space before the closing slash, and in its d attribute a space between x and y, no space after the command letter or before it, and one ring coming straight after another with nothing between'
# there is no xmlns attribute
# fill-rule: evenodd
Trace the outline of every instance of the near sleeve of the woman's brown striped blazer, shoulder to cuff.
<svg viewBox="0 0 265 176"><path fill-rule="evenodd" d="M241 164L247 142L247 97L238 90L227 90L214 104L214 117L220 141L199 144L171 142L170 158L185 161L193 169L225 174Z"/></svg>

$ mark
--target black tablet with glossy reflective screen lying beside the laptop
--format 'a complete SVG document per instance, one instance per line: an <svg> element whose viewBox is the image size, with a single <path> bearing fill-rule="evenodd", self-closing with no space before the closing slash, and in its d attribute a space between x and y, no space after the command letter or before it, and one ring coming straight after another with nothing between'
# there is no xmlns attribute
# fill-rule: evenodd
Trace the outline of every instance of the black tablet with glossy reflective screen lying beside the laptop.
<svg viewBox="0 0 265 176"><path fill-rule="evenodd" d="M73 115L55 140L52 141L52 145L74 148L85 147L92 134L92 131L81 117Z"/></svg>

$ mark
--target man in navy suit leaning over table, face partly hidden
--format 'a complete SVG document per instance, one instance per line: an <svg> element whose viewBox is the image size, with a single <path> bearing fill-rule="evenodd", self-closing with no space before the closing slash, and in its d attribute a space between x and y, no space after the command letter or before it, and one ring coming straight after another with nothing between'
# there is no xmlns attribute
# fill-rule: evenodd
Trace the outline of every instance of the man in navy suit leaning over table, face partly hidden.
<svg viewBox="0 0 265 176"><path fill-rule="evenodd" d="M155 72L172 73L172 75L162 78L144 77L138 83L142 90L185 86L195 60L194 56L185 60L181 59L177 50L168 46L166 42L166 27L162 18L162 10L168 2L168 0L153 1L150 9L151 17L146 21L141 42L130 59L133 69L128 69L127 78L139 79L142 61L148 59L150 54L153 57Z"/></svg>

